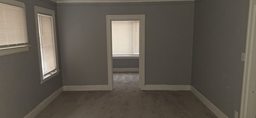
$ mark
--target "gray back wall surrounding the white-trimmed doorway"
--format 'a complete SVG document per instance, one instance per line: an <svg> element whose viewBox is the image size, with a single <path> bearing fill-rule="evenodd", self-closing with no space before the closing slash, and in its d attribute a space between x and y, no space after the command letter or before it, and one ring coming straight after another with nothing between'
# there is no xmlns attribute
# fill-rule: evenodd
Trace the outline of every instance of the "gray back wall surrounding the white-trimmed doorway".
<svg viewBox="0 0 256 118"><path fill-rule="evenodd" d="M194 3L157 3L58 4L63 85L108 84L106 15L113 14L146 15L146 84L190 85Z"/></svg>

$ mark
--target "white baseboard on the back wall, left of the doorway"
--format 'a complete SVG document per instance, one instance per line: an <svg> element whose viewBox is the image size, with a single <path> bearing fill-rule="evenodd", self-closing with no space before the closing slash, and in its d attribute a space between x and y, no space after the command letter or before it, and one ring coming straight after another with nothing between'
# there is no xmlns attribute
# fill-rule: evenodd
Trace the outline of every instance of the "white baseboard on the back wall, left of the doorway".
<svg viewBox="0 0 256 118"><path fill-rule="evenodd" d="M109 90L109 85L63 86L64 91Z"/></svg>

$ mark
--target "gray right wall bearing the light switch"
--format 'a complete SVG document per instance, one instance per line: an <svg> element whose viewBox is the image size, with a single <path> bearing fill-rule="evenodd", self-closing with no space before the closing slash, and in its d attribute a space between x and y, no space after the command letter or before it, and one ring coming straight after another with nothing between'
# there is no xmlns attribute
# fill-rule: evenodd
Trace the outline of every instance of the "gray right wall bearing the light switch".
<svg viewBox="0 0 256 118"><path fill-rule="evenodd" d="M240 112L249 0L195 4L192 86L229 118Z"/></svg>

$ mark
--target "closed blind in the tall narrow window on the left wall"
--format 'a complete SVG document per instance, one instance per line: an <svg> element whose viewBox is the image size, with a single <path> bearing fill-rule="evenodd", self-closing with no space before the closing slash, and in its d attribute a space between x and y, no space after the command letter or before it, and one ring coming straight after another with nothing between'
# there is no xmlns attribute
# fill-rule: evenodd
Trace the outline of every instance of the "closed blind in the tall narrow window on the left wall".
<svg viewBox="0 0 256 118"><path fill-rule="evenodd" d="M38 14L43 75L56 70L52 16Z"/></svg>

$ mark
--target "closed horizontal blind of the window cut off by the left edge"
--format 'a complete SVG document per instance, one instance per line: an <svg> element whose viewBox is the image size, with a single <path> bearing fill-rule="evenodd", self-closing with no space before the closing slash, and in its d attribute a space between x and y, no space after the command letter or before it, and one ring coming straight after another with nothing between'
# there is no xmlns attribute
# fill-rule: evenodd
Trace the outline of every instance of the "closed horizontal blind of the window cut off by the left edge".
<svg viewBox="0 0 256 118"><path fill-rule="evenodd" d="M0 48L27 44L25 9L0 3Z"/></svg>

